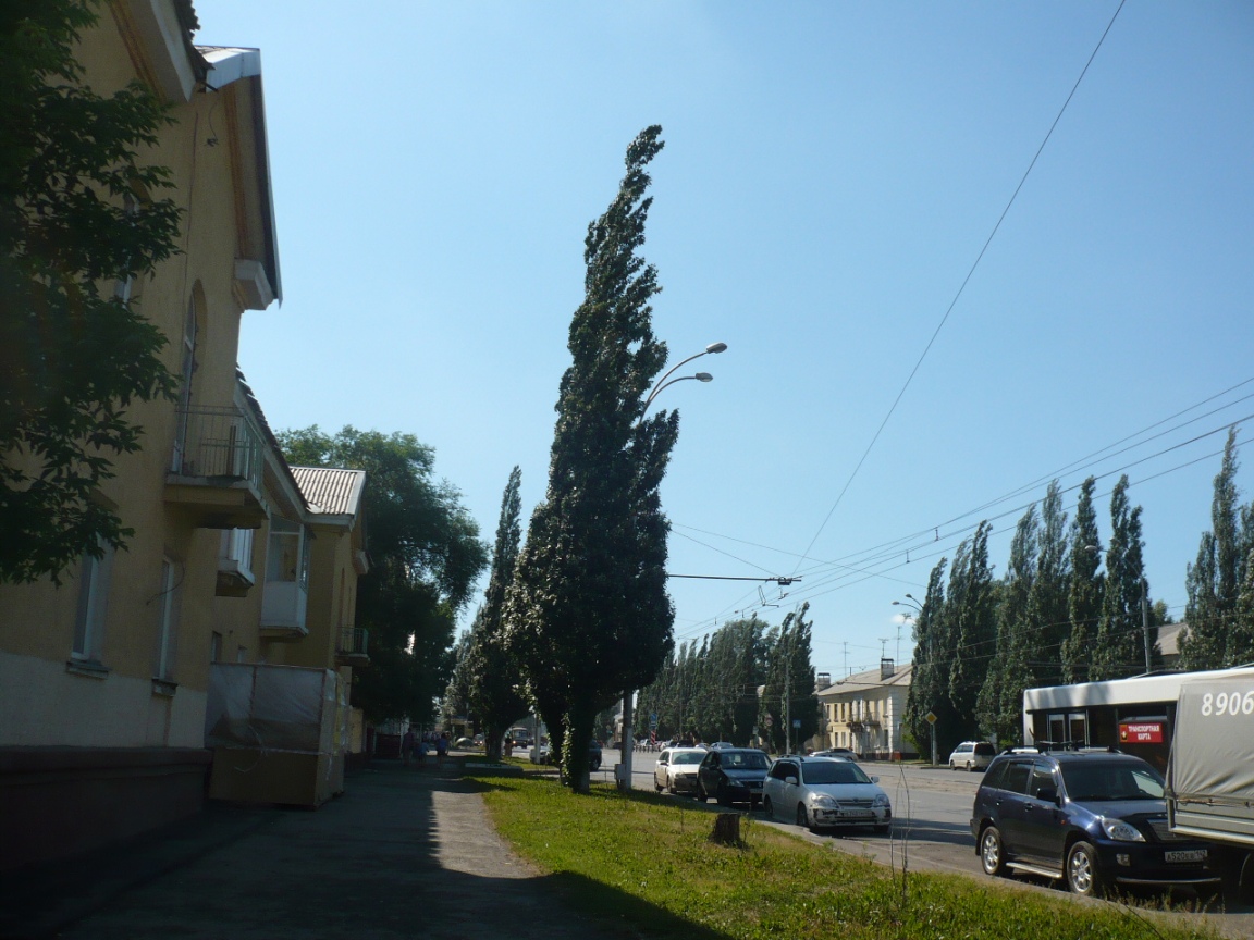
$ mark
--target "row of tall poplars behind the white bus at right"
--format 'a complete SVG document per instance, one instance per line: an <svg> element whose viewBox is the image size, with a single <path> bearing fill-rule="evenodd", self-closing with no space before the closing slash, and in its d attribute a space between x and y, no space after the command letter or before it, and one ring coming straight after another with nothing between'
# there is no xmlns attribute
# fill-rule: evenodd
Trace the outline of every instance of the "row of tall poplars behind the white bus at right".
<svg viewBox="0 0 1254 940"><path fill-rule="evenodd" d="M1179 667L1211 669L1254 662L1254 501L1236 490L1236 429L1215 478L1211 529L1186 573L1189 594ZM1093 505L1096 480L1080 486L1072 520L1058 483L1040 511L1028 508L1011 541L1006 574L988 560L984 521L953 561L932 569L914 617L914 671L905 733L939 753L957 742L1022 737L1023 691L1095 682L1160 668L1157 628L1170 623L1154 603L1144 570L1141 508L1122 476L1111 493L1110 543L1102 546ZM927 721L935 717L934 726Z"/></svg>

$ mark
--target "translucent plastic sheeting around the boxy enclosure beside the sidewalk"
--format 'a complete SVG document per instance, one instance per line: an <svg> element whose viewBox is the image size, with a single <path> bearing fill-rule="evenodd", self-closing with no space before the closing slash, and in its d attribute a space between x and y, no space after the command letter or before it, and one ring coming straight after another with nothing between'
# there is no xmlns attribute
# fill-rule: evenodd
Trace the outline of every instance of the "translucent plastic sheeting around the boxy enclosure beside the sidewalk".
<svg viewBox="0 0 1254 940"><path fill-rule="evenodd" d="M213 663L206 746L339 753L345 741L342 684L330 669Z"/></svg>

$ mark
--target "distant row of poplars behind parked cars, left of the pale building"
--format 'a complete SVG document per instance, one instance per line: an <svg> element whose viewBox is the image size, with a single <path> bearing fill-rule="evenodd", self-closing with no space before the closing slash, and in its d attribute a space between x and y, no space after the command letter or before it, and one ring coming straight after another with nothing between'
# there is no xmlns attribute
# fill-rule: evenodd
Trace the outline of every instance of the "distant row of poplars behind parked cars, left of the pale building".
<svg viewBox="0 0 1254 940"><path fill-rule="evenodd" d="M813 737L820 717L808 610L804 604L777 627L756 615L731 620L700 645L681 644L641 691L641 722L656 716L660 741L691 737L745 746L756 738L772 752Z"/></svg>

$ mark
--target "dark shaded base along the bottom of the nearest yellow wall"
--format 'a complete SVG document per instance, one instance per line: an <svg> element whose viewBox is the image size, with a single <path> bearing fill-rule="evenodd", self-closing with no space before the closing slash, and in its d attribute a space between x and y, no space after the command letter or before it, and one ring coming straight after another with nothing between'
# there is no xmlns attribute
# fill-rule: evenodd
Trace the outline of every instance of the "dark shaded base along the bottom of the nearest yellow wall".
<svg viewBox="0 0 1254 940"><path fill-rule="evenodd" d="M89 852L204 807L202 748L0 748L0 871Z"/></svg>

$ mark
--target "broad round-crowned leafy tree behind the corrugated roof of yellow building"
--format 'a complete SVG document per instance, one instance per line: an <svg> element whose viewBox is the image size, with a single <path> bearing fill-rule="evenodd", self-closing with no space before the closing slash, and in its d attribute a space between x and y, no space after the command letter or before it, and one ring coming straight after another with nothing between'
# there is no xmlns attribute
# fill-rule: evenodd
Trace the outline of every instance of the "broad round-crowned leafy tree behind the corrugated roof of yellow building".
<svg viewBox="0 0 1254 940"><path fill-rule="evenodd" d="M488 548L435 451L410 434L317 425L277 435L288 462L366 471L370 572L357 583L357 625L370 630L370 668L354 676L352 704L374 722L425 724L450 678L453 628Z"/></svg>

